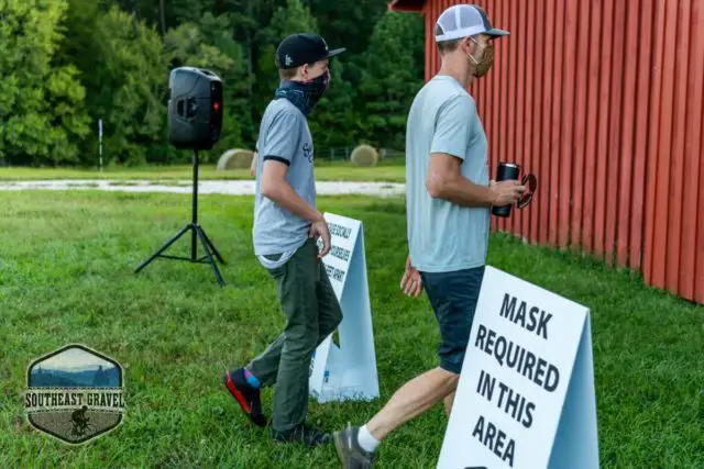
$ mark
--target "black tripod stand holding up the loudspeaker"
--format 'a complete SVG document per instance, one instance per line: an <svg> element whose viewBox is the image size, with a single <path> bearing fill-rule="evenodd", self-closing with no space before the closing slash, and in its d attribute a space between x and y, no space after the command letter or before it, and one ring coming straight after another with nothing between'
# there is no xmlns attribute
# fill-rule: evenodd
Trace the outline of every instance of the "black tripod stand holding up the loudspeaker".
<svg viewBox="0 0 704 469"><path fill-rule="evenodd" d="M180 238L186 233L190 232L190 257L180 257L180 256L168 256L163 254L168 247L176 243L178 238ZM202 245L206 255L198 258L198 241L200 239L200 244ZM157 257L163 257L166 259L175 259L175 260L188 260L190 263L198 264L210 264L212 270L216 273L216 278L218 279L218 283L220 287L224 286L224 281L222 280L222 276L220 275L220 270L218 269L218 265L213 259L213 256L224 265L224 260L218 249L212 245L210 238L206 234L205 230L198 224L198 150L194 149L194 192L193 192L193 219L189 224L184 226L182 231L176 233L170 239L168 239L156 253L154 253L148 259L146 259L140 267L136 268L134 273L139 273L142 269L144 269L152 260Z"/></svg>

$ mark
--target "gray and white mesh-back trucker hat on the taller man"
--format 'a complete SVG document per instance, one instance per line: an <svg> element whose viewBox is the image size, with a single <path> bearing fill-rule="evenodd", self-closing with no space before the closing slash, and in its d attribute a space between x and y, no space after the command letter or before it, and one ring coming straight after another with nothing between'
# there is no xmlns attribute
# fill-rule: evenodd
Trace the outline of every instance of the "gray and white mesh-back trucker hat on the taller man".
<svg viewBox="0 0 704 469"><path fill-rule="evenodd" d="M455 4L442 12L438 22L441 33L436 35L436 42L453 41L475 34L490 36L507 36L508 31L497 30L492 25L488 15L475 4Z"/></svg>

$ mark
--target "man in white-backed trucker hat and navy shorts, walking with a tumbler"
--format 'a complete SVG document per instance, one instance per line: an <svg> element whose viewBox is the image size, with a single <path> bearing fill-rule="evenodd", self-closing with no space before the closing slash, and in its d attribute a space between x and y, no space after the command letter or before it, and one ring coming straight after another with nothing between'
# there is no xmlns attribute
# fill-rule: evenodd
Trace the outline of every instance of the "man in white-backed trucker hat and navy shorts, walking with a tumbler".
<svg viewBox="0 0 704 469"><path fill-rule="evenodd" d="M487 139L466 91L494 58L491 40L507 35L476 5L446 10L436 25L440 72L418 92L406 133L406 205L410 255L402 288L425 286L440 328L440 366L404 384L366 425L334 434L345 468L370 468L381 440L444 400L451 412L484 275L492 205L518 201L517 181L488 178Z"/></svg>

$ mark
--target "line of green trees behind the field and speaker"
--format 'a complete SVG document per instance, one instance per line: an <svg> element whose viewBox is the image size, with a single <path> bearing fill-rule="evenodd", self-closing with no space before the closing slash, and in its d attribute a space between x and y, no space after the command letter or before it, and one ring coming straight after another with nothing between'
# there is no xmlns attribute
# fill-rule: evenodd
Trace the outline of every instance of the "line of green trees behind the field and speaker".
<svg viewBox="0 0 704 469"><path fill-rule="evenodd" d="M424 23L386 0L0 0L0 160L95 166L99 120L110 164L189 160L167 135L179 66L223 80L221 139L205 157L253 148L279 82L278 42L301 31L348 48L309 120L316 145L403 148Z"/></svg>

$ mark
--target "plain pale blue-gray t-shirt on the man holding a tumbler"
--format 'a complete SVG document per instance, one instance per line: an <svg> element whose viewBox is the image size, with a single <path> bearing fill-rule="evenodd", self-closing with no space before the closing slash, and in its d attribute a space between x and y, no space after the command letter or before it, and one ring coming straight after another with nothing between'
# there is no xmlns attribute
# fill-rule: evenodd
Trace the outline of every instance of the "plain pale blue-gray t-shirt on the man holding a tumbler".
<svg viewBox="0 0 704 469"><path fill-rule="evenodd" d="M474 99L450 76L436 76L414 99L406 129L406 208L413 265L447 272L483 266L490 233L488 208L468 208L430 197L426 187L431 153L462 160L462 176L488 186L487 142Z"/></svg>

